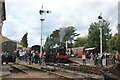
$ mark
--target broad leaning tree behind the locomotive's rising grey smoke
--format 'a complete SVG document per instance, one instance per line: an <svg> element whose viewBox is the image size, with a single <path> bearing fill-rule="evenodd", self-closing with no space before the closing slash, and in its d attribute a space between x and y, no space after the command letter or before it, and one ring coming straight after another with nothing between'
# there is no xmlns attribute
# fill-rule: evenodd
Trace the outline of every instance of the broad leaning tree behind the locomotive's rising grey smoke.
<svg viewBox="0 0 120 80"><path fill-rule="evenodd" d="M44 46L50 48L50 46L53 47L55 44L60 44L60 42L72 41L75 36L78 36L75 31L76 29L73 26L57 29L47 37Z"/></svg>

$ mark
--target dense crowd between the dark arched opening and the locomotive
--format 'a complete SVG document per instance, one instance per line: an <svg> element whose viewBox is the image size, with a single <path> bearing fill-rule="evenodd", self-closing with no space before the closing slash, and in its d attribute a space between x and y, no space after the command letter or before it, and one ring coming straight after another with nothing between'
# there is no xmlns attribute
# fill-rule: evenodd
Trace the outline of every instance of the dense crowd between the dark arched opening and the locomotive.
<svg viewBox="0 0 120 80"><path fill-rule="evenodd" d="M42 57L40 57L40 53L37 50L35 51L35 50L17 49L16 57L17 57L17 60L24 60L29 64L32 64L32 63L37 64L37 63L43 62L41 60L44 60L42 58L45 58L45 53L42 54Z"/></svg>

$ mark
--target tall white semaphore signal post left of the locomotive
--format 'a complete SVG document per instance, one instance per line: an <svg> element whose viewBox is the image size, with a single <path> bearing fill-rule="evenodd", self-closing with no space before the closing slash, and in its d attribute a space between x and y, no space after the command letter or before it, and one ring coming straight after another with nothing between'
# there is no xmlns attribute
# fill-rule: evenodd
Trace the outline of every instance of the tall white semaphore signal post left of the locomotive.
<svg viewBox="0 0 120 80"><path fill-rule="evenodd" d="M41 30L41 36L40 36L40 37L41 37L41 38L40 38L40 41L41 41L41 42L40 42L40 45L41 45L41 46L40 46L40 58L41 58L41 57L42 57L42 40L43 40L43 39L42 39L43 21L45 20L45 19L44 19L44 14L50 13L50 11L43 10L43 6L42 6L42 7L41 7L41 10L39 11L39 13L40 13L40 15L41 15L41 18L40 18L40 21L41 21L41 29L40 29L40 30Z"/></svg>

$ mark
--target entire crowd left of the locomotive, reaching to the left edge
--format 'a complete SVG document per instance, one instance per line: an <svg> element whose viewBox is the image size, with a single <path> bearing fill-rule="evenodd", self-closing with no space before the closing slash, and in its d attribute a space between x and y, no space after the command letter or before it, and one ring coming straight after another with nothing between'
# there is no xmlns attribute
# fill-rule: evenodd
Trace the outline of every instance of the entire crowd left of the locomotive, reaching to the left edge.
<svg viewBox="0 0 120 80"><path fill-rule="evenodd" d="M22 48L18 48L16 49L14 52L12 52L11 54L9 53L9 51L2 53L2 57L4 58L4 62L6 62L6 64L8 64L9 62L9 58L11 58L10 62L13 63L19 63L20 61L26 61L29 64L32 63L42 63L45 64L45 52L44 54L42 54L42 56L40 57L40 53L39 51L35 51L35 50L31 50L31 49L22 49ZM3 61L2 61L3 64Z"/></svg>

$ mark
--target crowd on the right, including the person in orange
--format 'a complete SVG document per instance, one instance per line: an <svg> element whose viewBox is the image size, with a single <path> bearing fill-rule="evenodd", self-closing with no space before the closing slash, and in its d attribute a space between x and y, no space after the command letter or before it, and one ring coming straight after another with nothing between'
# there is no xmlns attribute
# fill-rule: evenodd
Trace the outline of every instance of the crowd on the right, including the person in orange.
<svg viewBox="0 0 120 80"><path fill-rule="evenodd" d="M83 53L81 55L82 57L82 61L83 61L83 65L86 64L86 59L89 60L88 62L93 62L94 65L100 65L100 66L107 66L107 65L113 65L118 61L118 55L115 53L112 54L108 54L108 53L103 53L101 54L93 54L90 53L89 54L89 58L87 59L87 55L86 53Z"/></svg>

